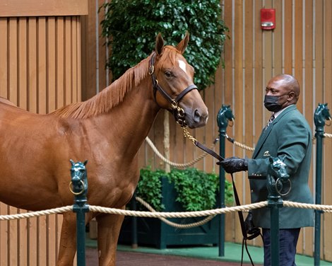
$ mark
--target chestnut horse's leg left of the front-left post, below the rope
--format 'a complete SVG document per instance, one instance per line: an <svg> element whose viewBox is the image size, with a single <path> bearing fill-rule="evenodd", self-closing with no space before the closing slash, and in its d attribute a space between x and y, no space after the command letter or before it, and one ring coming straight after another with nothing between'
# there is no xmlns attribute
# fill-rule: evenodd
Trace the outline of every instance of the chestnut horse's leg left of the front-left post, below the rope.
<svg viewBox="0 0 332 266"><path fill-rule="evenodd" d="M66 212L62 221L58 266L73 265L76 254L76 214Z"/></svg>

